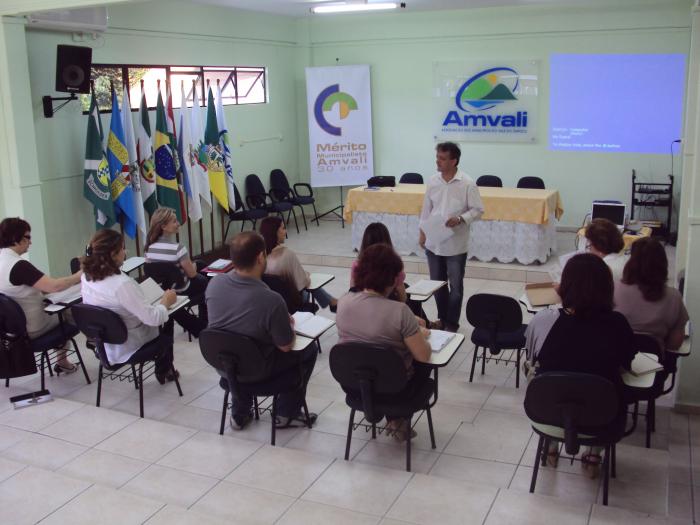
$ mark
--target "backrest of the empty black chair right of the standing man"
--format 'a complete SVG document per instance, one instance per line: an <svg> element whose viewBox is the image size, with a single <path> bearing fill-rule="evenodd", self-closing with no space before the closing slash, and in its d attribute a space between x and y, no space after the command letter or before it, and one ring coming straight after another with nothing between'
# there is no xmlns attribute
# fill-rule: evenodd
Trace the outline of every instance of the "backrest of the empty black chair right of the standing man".
<svg viewBox="0 0 700 525"><path fill-rule="evenodd" d="M512 332L520 328L523 312L512 297L490 293L472 295L467 301L467 321L474 328L483 328L489 333L489 349L499 352L499 332Z"/></svg>

